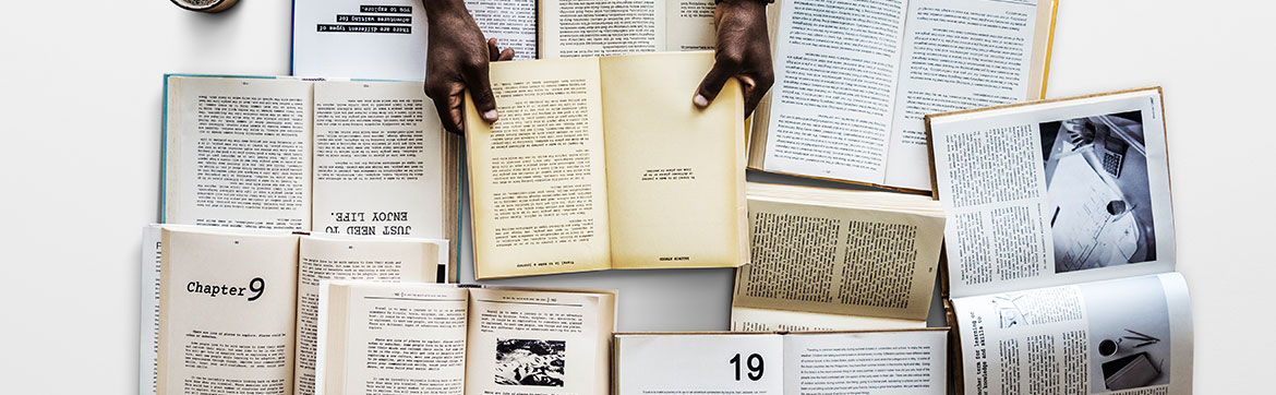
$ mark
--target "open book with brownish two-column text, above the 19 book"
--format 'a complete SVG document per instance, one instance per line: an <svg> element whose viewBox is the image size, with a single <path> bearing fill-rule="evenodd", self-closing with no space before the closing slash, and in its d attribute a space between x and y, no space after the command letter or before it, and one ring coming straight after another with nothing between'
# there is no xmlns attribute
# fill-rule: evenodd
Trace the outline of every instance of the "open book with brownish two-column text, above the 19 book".
<svg viewBox="0 0 1276 395"><path fill-rule="evenodd" d="M736 270L732 331L925 327L943 244L916 194L748 184L753 256Z"/></svg>

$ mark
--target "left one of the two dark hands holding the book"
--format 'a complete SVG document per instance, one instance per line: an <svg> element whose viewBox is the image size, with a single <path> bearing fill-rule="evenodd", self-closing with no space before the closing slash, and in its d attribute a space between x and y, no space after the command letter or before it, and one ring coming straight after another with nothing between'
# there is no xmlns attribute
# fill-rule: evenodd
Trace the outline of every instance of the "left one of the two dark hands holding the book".
<svg viewBox="0 0 1276 395"><path fill-rule="evenodd" d="M464 133L464 92L470 91L480 116L496 121L496 98L487 81L487 63L514 59L500 51L496 40L484 41L482 31L461 0L422 0L429 24L425 60L425 96L434 101L443 129Z"/></svg>

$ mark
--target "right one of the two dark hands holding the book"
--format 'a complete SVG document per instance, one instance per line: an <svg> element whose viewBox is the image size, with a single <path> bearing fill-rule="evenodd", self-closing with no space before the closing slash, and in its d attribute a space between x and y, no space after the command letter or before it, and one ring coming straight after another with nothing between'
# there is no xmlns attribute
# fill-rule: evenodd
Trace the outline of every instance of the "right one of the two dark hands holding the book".
<svg viewBox="0 0 1276 395"><path fill-rule="evenodd" d="M713 22L717 24L713 69L704 75L692 102L697 107L707 107L727 78L734 77L744 91L744 116L748 118L776 79L771 69L767 1L721 0Z"/></svg>

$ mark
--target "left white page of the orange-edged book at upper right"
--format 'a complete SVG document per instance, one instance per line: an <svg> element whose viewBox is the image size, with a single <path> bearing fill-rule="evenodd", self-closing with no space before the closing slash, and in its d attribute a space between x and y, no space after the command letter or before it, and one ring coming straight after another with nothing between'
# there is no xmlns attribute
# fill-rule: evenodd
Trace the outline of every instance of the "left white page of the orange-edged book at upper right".
<svg viewBox="0 0 1276 395"><path fill-rule="evenodd" d="M775 6L776 84L763 170L880 184L905 1L781 0Z"/></svg>

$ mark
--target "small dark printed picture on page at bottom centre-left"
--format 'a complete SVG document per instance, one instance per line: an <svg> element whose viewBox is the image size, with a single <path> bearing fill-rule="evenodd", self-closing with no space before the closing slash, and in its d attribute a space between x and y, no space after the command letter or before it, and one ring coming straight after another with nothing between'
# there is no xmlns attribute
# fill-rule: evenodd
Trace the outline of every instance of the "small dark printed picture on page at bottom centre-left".
<svg viewBox="0 0 1276 395"><path fill-rule="evenodd" d="M567 341L496 339L496 383L561 387Z"/></svg>

